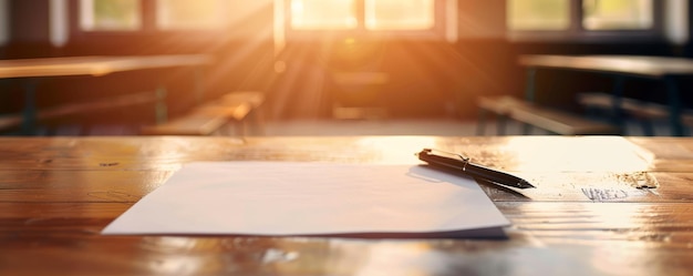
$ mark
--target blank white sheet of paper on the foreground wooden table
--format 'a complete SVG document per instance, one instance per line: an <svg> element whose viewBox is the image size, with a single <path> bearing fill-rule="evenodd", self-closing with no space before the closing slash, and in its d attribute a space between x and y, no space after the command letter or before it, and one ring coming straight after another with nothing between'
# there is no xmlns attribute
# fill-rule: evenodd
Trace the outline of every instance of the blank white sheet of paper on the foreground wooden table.
<svg viewBox="0 0 693 276"><path fill-rule="evenodd" d="M425 166L200 162L103 234L423 234L506 225L474 180Z"/></svg>

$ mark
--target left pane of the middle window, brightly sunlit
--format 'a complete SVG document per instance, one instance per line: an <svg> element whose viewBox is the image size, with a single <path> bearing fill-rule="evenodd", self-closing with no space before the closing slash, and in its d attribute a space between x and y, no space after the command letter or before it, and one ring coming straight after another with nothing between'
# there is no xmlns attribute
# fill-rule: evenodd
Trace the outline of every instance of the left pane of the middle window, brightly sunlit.
<svg viewBox="0 0 693 276"><path fill-rule="evenodd" d="M354 29L355 0L291 0L293 29Z"/></svg>

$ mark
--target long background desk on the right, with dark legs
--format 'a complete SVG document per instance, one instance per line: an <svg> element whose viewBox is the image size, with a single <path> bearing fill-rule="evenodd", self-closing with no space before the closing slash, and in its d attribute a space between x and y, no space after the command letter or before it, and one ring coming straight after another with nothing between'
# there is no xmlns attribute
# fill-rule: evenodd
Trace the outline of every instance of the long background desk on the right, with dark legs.
<svg viewBox="0 0 693 276"><path fill-rule="evenodd" d="M627 78L661 80L666 88L672 135L684 134L681 123L681 92L676 78L693 75L693 60L640 55L523 55L519 63L527 67L527 100L535 96L535 76L538 68L567 69L606 73L614 76L613 111L618 114ZM620 122L617 122L620 123Z"/></svg>

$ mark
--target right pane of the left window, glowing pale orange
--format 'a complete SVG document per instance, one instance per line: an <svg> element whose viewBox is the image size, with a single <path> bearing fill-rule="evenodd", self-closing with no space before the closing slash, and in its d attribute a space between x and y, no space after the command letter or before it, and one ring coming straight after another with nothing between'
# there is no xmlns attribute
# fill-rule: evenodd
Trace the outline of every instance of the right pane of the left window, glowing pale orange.
<svg viewBox="0 0 693 276"><path fill-rule="evenodd" d="M223 11L228 0L157 0L156 25L159 29L213 29L224 24Z"/></svg>

